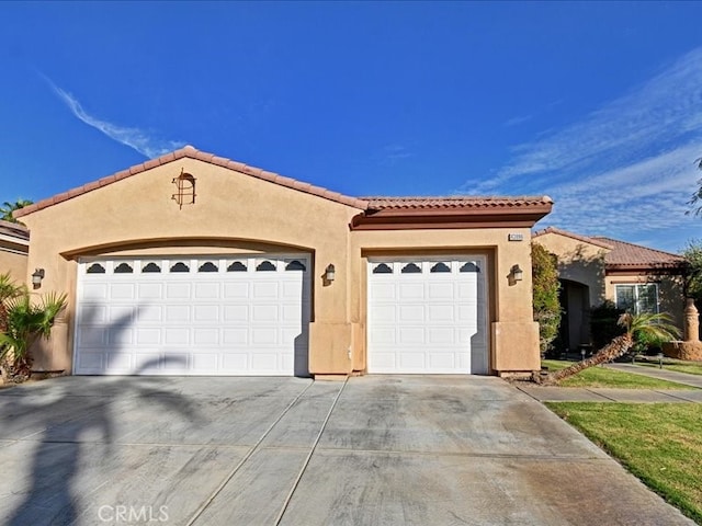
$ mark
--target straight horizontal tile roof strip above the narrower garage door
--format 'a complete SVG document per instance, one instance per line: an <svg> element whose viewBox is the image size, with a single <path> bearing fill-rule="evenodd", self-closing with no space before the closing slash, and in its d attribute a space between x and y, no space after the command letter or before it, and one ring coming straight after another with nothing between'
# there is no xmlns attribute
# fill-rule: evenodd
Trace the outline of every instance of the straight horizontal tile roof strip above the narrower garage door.
<svg viewBox="0 0 702 526"><path fill-rule="evenodd" d="M551 197L520 196L520 197L479 197L479 196L449 196L449 197L361 197L369 203L372 210L385 209L423 209L423 208L513 208L533 205L553 204Z"/></svg>

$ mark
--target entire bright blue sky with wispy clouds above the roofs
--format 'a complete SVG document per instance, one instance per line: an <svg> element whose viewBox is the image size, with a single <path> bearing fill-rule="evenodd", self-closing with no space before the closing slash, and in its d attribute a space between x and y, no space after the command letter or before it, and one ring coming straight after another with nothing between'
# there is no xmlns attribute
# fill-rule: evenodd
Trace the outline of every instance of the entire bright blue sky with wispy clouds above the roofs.
<svg viewBox="0 0 702 526"><path fill-rule="evenodd" d="M702 237L699 2L0 4L0 202L185 144L354 196L541 195Z"/></svg>

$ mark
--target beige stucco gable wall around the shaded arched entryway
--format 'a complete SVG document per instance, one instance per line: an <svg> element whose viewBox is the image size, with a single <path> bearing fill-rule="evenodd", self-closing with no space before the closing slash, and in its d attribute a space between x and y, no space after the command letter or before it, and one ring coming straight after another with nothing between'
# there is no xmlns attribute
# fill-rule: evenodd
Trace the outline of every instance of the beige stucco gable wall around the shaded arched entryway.
<svg viewBox="0 0 702 526"><path fill-rule="evenodd" d="M562 279L588 287L591 307L604 301L604 255L609 249L555 232L539 236L534 242L558 256L558 276Z"/></svg>

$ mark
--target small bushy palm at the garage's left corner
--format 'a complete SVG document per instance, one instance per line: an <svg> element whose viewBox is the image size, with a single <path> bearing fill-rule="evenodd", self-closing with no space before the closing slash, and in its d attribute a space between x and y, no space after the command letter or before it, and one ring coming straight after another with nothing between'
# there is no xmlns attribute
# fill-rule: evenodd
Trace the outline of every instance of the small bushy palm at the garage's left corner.
<svg viewBox="0 0 702 526"><path fill-rule="evenodd" d="M4 358L14 376L30 376L27 352L39 338L48 338L54 321L66 307L66 295L49 293L32 301L32 294L21 291L4 301L3 331L0 333L0 358Z"/></svg>

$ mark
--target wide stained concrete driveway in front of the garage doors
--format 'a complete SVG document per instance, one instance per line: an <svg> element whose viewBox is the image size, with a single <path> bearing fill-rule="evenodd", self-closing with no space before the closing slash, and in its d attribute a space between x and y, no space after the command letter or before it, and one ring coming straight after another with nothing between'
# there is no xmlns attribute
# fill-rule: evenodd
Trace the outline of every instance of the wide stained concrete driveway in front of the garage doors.
<svg viewBox="0 0 702 526"><path fill-rule="evenodd" d="M693 524L498 378L0 390L0 524Z"/></svg>

